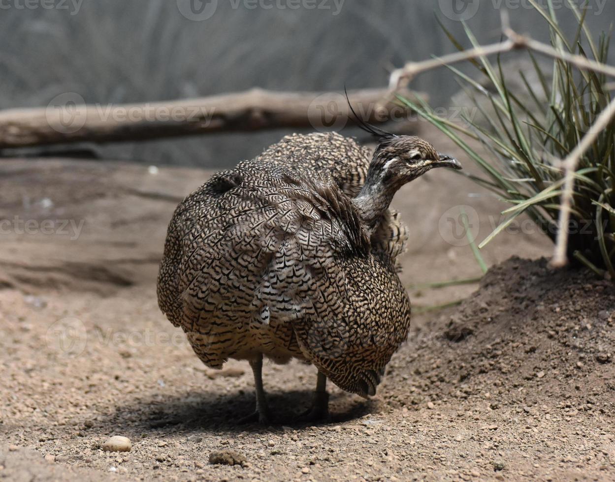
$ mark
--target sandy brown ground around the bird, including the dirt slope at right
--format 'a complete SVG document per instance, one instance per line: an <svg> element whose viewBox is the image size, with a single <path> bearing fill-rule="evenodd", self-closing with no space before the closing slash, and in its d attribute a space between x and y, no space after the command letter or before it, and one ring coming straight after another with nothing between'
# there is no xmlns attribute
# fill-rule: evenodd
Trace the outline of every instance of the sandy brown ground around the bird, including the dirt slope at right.
<svg viewBox="0 0 615 482"><path fill-rule="evenodd" d="M2 161L0 478L615 479L613 286L517 258L480 287L423 286L480 276L457 206L479 240L502 208L448 172L395 199L411 227L402 280L416 315L378 395L330 387L330 420L297 424L315 370L268 363L276 424L238 425L253 408L247 363L208 370L156 305L167 223L207 175ZM549 251L542 235L517 232L483 255L494 265ZM103 451L111 435L132 450ZM246 462L208 464L219 450Z"/></svg>

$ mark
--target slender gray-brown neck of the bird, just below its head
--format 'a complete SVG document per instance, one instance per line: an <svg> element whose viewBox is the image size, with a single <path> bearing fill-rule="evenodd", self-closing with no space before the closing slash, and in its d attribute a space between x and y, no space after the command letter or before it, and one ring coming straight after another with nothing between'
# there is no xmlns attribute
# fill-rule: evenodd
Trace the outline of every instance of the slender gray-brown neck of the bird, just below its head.
<svg viewBox="0 0 615 482"><path fill-rule="evenodd" d="M376 230L397 190L402 187L393 177L387 176L381 166L372 163L367 171L365 184L352 200L359 216L367 224L368 231Z"/></svg>

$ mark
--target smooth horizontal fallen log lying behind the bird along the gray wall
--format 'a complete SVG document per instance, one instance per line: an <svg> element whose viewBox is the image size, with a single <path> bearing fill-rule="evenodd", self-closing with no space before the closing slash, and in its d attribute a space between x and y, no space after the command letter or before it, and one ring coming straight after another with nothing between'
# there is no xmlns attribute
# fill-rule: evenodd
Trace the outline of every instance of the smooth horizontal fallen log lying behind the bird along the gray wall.
<svg viewBox="0 0 615 482"><path fill-rule="evenodd" d="M409 98L407 90L398 92ZM421 94L426 99L426 95ZM386 89L349 91L363 120L408 117L408 108ZM225 131L275 128L337 130L349 119L346 97L327 92L252 90L199 99L145 104L85 104L77 93L47 107L0 111L0 149L70 142L143 141Z"/></svg>

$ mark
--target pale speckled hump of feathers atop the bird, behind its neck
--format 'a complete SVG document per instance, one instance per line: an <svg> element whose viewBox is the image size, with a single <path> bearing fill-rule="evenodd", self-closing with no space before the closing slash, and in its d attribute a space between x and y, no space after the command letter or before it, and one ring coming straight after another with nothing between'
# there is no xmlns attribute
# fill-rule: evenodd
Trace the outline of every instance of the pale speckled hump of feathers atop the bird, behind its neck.
<svg viewBox="0 0 615 482"><path fill-rule="evenodd" d="M269 146L256 160L291 170L327 173L339 189L354 198L365 183L371 152L337 133L292 134Z"/></svg>

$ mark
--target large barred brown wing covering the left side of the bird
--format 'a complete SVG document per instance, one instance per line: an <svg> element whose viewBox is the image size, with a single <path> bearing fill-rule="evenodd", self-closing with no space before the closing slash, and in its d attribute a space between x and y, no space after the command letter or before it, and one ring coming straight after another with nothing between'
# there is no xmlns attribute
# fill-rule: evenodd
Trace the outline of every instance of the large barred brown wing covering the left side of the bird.
<svg viewBox="0 0 615 482"><path fill-rule="evenodd" d="M316 280L345 286L337 257L369 241L351 200L329 176L244 161L216 174L173 216L159 304L173 324L288 322L312 309Z"/></svg>

